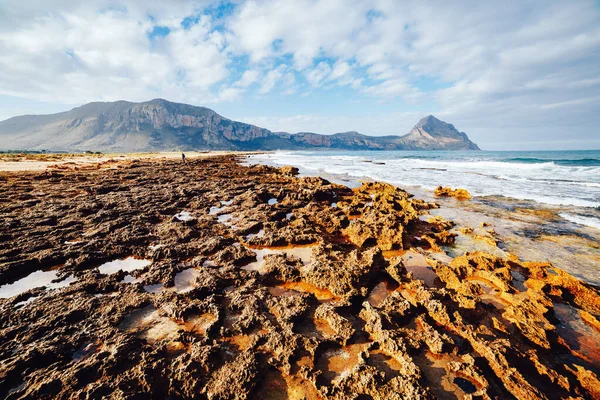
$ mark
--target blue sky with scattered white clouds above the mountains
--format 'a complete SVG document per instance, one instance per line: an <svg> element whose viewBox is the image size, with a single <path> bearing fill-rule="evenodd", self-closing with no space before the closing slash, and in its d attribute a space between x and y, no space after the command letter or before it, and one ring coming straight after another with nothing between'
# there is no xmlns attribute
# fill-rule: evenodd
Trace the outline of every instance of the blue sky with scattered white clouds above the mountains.
<svg viewBox="0 0 600 400"><path fill-rule="evenodd" d="M600 149L600 1L2 0L0 120L170 101L273 131Z"/></svg>

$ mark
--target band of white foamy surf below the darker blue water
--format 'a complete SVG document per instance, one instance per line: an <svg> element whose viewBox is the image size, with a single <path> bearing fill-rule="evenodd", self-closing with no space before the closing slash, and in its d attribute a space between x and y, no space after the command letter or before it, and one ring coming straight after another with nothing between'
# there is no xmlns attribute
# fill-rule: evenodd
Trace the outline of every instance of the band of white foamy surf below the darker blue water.
<svg viewBox="0 0 600 400"><path fill-rule="evenodd" d="M474 196L497 195L558 206L600 206L599 167L474 161L452 154L446 155L446 159L409 159L390 153L271 153L261 157L276 165L295 165L311 174L371 178L426 190L438 185L461 187Z"/></svg>

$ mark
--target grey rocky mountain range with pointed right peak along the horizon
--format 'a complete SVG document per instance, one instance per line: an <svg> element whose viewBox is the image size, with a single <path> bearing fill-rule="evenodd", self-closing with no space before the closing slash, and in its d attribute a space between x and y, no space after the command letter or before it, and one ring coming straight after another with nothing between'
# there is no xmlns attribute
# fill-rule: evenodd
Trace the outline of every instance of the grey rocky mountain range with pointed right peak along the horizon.
<svg viewBox="0 0 600 400"><path fill-rule="evenodd" d="M271 132L232 121L205 107L155 99L88 103L51 115L0 122L0 149L14 150L478 150L465 133L432 115L404 136L358 132L320 135Z"/></svg>

